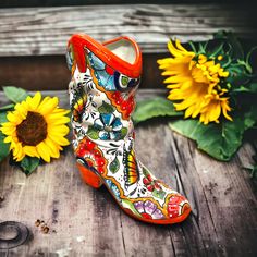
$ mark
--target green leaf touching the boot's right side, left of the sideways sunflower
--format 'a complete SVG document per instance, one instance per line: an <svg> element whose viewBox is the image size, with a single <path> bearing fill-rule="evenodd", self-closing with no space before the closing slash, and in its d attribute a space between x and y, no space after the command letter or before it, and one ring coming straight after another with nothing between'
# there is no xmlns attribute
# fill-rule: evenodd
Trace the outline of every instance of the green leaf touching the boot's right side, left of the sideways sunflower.
<svg viewBox="0 0 257 257"><path fill-rule="evenodd" d="M155 117L179 117L183 112L175 111L173 103L161 97L156 97L143 101L138 101L136 110L133 114L135 123L146 121Z"/></svg>

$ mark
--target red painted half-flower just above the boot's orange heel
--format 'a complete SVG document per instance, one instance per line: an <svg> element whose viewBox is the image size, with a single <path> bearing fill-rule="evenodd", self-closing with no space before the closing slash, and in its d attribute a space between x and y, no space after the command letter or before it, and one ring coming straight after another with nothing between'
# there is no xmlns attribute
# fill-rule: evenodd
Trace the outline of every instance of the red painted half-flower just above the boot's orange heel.
<svg viewBox="0 0 257 257"><path fill-rule="evenodd" d="M82 158L88 167L96 169L101 174L105 173L107 160L97 144L85 137L79 142L75 152L76 157Z"/></svg>

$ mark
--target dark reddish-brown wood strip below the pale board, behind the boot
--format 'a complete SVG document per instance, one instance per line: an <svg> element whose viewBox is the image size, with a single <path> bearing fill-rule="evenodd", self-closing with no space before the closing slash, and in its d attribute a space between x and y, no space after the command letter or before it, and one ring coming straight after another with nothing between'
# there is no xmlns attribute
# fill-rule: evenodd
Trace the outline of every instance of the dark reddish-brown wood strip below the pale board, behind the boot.
<svg viewBox="0 0 257 257"><path fill-rule="evenodd" d="M164 57L164 53L143 54L142 88L161 88L163 77L157 60ZM2 86L15 85L28 90L63 90L70 78L64 54L1 57L0 89Z"/></svg>

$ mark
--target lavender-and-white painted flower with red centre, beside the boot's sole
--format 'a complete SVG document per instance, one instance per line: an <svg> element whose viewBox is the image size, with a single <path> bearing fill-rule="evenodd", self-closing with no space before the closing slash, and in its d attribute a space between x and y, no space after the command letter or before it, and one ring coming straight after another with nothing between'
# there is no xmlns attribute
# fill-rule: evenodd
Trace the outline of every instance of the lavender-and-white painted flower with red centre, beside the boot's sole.
<svg viewBox="0 0 257 257"><path fill-rule="evenodd" d="M164 219L163 213L158 209L157 205L150 200L139 200L134 203L134 207L145 219L160 220Z"/></svg>

